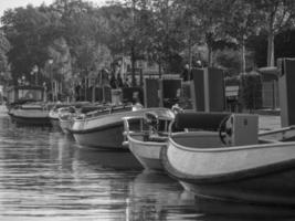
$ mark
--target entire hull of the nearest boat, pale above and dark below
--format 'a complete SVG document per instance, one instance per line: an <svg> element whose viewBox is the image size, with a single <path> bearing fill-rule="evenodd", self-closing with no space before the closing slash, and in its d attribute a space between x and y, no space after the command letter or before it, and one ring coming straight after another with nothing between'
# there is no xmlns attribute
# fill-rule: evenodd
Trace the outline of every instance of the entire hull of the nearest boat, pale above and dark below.
<svg viewBox="0 0 295 221"><path fill-rule="evenodd" d="M295 206L295 143L189 148L170 138L161 160L197 196Z"/></svg>

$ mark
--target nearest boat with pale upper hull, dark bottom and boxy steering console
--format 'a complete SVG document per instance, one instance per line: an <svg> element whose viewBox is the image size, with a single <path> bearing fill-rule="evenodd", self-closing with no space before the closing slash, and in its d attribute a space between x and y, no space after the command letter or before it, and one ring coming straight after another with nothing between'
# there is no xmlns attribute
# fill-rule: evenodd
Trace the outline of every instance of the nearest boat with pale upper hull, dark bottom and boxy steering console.
<svg viewBox="0 0 295 221"><path fill-rule="evenodd" d="M295 143L259 139L255 118L232 114L215 130L172 133L161 150L165 170L196 196L294 206Z"/></svg>

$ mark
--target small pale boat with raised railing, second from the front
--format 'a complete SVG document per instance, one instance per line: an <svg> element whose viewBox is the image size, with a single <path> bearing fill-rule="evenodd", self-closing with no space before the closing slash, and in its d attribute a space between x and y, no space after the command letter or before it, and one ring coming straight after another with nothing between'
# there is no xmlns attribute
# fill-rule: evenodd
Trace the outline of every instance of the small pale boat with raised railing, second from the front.
<svg viewBox="0 0 295 221"><path fill-rule="evenodd" d="M169 125L173 112L147 112L144 116L125 117L124 129L127 145L145 169L164 170L160 151L167 145ZM137 123L136 123L137 122ZM135 124L136 123L136 124ZM131 128L130 125L140 125Z"/></svg>

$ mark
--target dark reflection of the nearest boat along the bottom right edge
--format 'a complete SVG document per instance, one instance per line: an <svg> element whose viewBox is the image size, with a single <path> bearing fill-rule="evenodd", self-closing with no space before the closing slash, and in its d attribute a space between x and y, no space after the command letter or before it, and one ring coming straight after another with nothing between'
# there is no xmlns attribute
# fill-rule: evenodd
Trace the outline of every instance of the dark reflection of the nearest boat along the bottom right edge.
<svg viewBox="0 0 295 221"><path fill-rule="evenodd" d="M213 198L196 197L197 212L201 220L283 220L294 219L294 208L281 206L262 206L241 201L223 201Z"/></svg>

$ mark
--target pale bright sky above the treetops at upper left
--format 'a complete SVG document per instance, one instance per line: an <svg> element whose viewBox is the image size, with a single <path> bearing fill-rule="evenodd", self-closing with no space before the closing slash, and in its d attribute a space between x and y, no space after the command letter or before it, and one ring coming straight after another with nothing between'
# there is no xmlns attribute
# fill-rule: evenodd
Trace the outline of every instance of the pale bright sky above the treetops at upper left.
<svg viewBox="0 0 295 221"><path fill-rule="evenodd" d="M105 3L106 0L88 0L88 1L94 2L98 6L102 6ZM49 6L52 2L54 2L54 0L0 0L0 17L2 17L3 12L8 9L27 7L28 4L33 4L34 7L39 7L43 2L46 6Z"/></svg>

